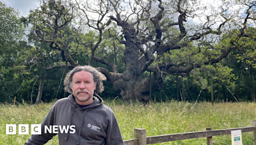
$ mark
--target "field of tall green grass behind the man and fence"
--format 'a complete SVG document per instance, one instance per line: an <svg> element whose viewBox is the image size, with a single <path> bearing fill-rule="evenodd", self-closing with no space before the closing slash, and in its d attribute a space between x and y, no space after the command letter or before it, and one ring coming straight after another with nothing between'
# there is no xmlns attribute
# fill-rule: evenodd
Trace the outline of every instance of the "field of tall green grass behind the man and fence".
<svg viewBox="0 0 256 145"><path fill-rule="evenodd" d="M0 144L24 144L30 135L6 135L6 124L39 124L53 106L54 102L39 105L12 104L0 105ZM256 104L251 102L217 103L212 107L210 102L198 102L193 109L189 102L149 103L146 106L136 102L123 104L122 100L104 102L115 112L124 140L134 138L134 128L144 128L147 136L177 134L182 132L203 131L206 127L212 130L250 127L256 120ZM213 138L213 144L231 144L230 135ZM253 132L242 134L243 144L253 144ZM47 144L58 144L54 137ZM206 144L206 137L159 144Z"/></svg>

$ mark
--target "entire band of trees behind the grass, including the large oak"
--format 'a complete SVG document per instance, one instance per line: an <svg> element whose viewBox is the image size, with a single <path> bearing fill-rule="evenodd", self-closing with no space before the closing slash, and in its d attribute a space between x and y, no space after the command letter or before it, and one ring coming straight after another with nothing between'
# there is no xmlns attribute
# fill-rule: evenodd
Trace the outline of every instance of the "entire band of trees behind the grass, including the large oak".
<svg viewBox="0 0 256 145"><path fill-rule="evenodd" d="M106 76L104 99L255 102L255 1L40 2L0 2L0 102L67 97L77 65Z"/></svg>

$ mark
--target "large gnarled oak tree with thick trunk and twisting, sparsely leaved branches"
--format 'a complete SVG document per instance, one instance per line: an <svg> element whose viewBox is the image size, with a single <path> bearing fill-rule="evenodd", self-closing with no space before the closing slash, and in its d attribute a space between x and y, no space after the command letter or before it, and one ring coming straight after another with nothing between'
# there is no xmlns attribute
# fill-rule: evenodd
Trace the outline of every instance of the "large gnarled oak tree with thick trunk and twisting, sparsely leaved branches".
<svg viewBox="0 0 256 145"><path fill-rule="evenodd" d="M163 88L167 74L189 75L195 68L218 63L232 50L239 49L239 39L254 37L245 30L255 24L255 1L218 3L204 6L200 1L189 0L50 0L42 1L31 17L35 18L33 28L38 41L48 42L52 49L59 50L71 67L77 63L70 53L86 53L90 57L88 65L94 60L111 68L98 70L115 90L121 91L122 99L147 101L150 86L153 92ZM115 25L118 27L113 29ZM86 27L98 34L90 45L81 35L86 33ZM72 36L65 34L65 28L72 30ZM216 45L230 29L239 29L236 37L228 39L230 45ZM118 72L116 59L114 62L98 55L109 53L101 46L104 34L115 38L114 52L118 49L116 42L125 46L122 73ZM72 46L68 43L71 39ZM87 50L88 46L90 51L79 50ZM144 78L147 72L153 75Z"/></svg>

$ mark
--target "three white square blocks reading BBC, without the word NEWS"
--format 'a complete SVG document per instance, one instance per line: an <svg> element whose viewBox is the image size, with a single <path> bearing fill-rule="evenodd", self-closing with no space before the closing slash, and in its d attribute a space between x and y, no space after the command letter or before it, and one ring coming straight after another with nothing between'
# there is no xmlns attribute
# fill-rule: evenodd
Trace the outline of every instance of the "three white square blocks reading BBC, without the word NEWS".
<svg viewBox="0 0 256 145"><path fill-rule="evenodd" d="M16 125L15 124L6 124L6 134L16 134ZM31 125L31 134L41 134L41 125L32 124ZM29 125L28 124L19 124L19 134L29 134Z"/></svg>

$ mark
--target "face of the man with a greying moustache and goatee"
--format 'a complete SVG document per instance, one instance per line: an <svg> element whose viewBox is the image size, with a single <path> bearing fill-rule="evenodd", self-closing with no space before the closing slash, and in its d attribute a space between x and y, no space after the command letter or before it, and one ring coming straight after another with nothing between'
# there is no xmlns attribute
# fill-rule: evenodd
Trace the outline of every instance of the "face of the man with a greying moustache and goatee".
<svg viewBox="0 0 256 145"><path fill-rule="evenodd" d="M74 74L72 78L72 91L78 104L91 104L95 88L93 75L90 72L79 71Z"/></svg>

